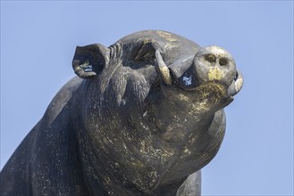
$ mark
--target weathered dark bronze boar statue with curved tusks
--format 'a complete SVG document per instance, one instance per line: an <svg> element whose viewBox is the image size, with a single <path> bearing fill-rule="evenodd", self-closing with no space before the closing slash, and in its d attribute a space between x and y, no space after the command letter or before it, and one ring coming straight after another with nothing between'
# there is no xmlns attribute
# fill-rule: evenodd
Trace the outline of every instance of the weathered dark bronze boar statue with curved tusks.
<svg viewBox="0 0 294 196"><path fill-rule="evenodd" d="M72 78L1 172L1 195L199 195L223 108L243 85L231 54L165 31L78 46Z"/></svg>

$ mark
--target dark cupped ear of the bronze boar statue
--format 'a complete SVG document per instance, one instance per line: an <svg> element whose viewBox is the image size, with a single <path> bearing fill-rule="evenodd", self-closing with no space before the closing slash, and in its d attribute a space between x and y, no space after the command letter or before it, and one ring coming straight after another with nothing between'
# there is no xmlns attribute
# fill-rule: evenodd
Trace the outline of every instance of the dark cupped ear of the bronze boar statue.
<svg viewBox="0 0 294 196"><path fill-rule="evenodd" d="M72 69L80 78L95 78L107 66L108 61L109 49L104 45L77 46Z"/></svg>

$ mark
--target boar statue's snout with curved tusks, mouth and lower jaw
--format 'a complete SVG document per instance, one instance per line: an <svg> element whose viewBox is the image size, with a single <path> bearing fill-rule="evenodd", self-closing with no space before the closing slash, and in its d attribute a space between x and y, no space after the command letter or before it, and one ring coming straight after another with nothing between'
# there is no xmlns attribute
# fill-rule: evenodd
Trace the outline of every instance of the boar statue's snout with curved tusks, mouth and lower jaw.
<svg viewBox="0 0 294 196"><path fill-rule="evenodd" d="M161 53L155 53L155 68L164 81L169 99L180 100L191 112L216 111L232 102L243 86L242 74L231 54L212 45L200 48L194 57L167 66ZM175 88L180 92L175 93ZM192 104L191 104L192 103Z"/></svg>

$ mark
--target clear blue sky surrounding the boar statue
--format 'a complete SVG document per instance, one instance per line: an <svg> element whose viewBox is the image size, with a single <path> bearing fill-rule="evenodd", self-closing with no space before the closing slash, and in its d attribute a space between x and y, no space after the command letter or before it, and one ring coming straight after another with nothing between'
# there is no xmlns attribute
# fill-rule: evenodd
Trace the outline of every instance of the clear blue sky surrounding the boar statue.
<svg viewBox="0 0 294 196"><path fill-rule="evenodd" d="M142 29L221 45L243 72L203 195L293 195L292 1L1 1L1 168L74 76L76 45Z"/></svg>

